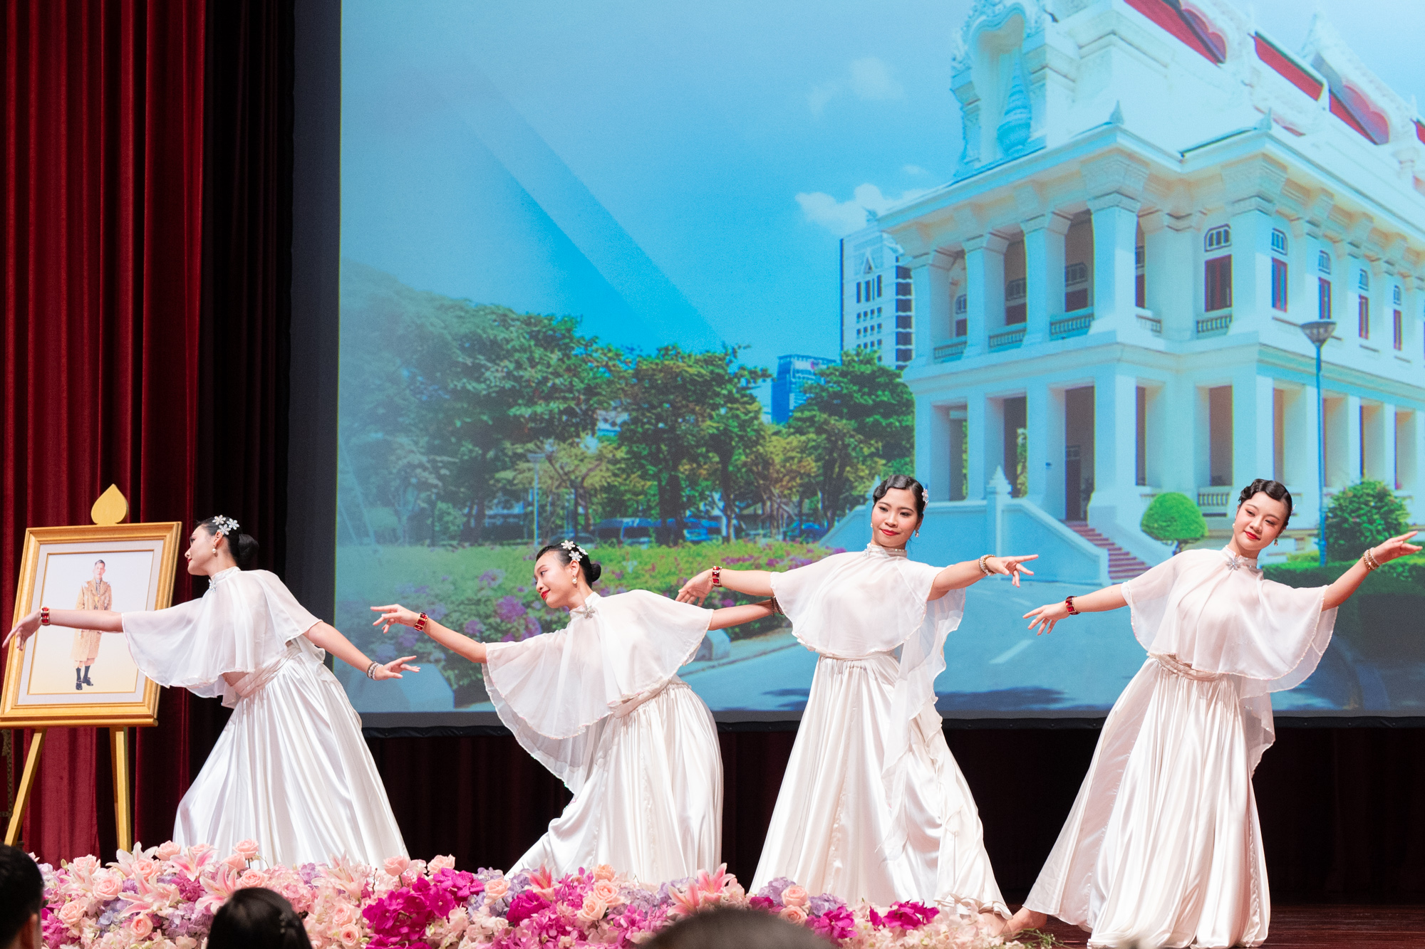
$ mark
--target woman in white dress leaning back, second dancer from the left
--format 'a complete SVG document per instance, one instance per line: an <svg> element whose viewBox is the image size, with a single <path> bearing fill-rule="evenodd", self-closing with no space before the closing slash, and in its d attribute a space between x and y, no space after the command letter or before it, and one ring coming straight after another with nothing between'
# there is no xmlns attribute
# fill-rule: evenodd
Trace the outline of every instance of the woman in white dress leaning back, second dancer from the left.
<svg viewBox="0 0 1425 949"><path fill-rule="evenodd" d="M513 869L610 864L650 883L683 879L720 862L722 757L712 714L674 673L708 630L772 607L703 610L648 590L601 597L598 574L573 541L540 550L534 588L570 621L520 643L479 643L400 604L372 610L382 631L410 626L484 663L500 721L574 794Z"/></svg>

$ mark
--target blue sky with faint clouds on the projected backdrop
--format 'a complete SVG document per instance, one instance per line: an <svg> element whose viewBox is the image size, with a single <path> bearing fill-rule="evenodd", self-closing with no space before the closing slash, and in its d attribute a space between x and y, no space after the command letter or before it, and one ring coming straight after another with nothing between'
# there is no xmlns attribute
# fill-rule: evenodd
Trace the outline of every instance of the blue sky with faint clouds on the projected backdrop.
<svg viewBox="0 0 1425 949"><path fill-rule="evenodd" d="M1425 94L1419 0L1243 6ZM342 254L618 343L832 355L839 234L955 171L969 7L346 0Z"/></svg>

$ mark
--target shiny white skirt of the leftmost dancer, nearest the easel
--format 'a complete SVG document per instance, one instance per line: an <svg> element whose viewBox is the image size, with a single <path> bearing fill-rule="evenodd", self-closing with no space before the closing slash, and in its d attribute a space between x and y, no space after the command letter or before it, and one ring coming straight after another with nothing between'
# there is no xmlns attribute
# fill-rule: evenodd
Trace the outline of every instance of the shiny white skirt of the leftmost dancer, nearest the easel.
<svg viewBox="0 0 1425 949"><path fill-rule="evenodd" d="M188 794L174 842L232 852L258 842L266 864L405 856L361 718L305 638L266 684L239 700Z"/></svg>

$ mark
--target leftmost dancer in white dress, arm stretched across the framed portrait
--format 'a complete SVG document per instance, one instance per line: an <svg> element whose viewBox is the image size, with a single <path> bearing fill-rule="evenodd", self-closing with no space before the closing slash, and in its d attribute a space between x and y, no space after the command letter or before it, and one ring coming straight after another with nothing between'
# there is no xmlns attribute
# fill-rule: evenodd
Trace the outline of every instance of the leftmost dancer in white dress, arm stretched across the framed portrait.
<svg viewBox="0 0 1425 949"><path fill-rule="evenodd" d="M208 591L167 610L36 610L10 636L44 626L123 633L130 655L160 685L222 697L232 717L178 804L174 842L228 854L256 841L262 859L298 866L345 856L379 866L405 856L361 720L323 650L375 680L400 678L413 655L382 665L302 608L266 570L242 570L256 541L228 517L190 537L188 573ZM9 641L10 637L6 637Z"/></svg>

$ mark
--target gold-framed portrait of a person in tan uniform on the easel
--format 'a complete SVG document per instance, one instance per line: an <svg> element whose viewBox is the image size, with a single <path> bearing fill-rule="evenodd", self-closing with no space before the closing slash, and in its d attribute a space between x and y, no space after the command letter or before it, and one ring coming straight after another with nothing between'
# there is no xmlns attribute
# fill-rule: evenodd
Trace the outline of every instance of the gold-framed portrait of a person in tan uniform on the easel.
<svg viewBox="0 0 1425 949"><path fill-rule="evenodd" d="M31 527L24 533L14 620L57 610L160 610L172 603L182 524ZM6 655L0 725L151 725L158 685L123 633L43 627Z"/></svg>

